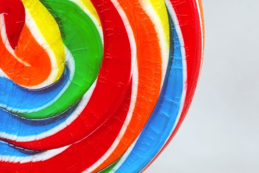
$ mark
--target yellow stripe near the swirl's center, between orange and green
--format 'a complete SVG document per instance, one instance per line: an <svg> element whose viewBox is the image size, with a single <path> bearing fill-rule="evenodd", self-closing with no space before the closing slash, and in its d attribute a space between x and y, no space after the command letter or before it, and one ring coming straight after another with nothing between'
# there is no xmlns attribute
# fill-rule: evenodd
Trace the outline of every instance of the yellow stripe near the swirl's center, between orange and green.
<svg viewBox="0 0 259 173"><path fill-rule="evenodd" d="M61 34L58 25L48 11L48 9L40 2L40 0L22 0L26 10L30 13L34 19L38 29L40 30L42 37L48 43L55 59L52 60L52 68L57 70L56 78L53 82L57 81L64 71L65 61L65 47L62 42Z"/></svg>

